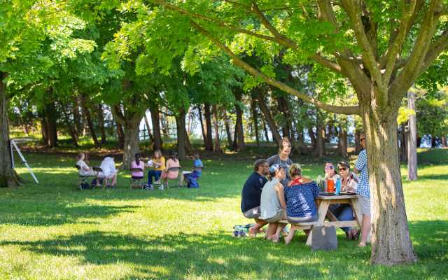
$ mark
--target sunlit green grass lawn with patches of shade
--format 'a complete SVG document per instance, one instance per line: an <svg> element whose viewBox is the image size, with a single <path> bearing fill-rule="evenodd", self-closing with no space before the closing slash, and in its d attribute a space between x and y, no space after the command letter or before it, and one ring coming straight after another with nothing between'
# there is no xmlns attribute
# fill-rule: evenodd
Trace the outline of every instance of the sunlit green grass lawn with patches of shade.
<svg viewBox="0 0 448 280"><path fill-rule="evenodd" d="M251 222L239 210L250 157L204 159L199 190L163 192L131 191L123 173L117 190L80 191L73 158L26 157L41 183L19 168L28 183L0 189L0 279L448 279L446 149L420 151L419 181L404 181L419 262L398 267L369 265L370 248L341 231L331 252L311 252L303 233L289 246L233 238Z"/></svg>

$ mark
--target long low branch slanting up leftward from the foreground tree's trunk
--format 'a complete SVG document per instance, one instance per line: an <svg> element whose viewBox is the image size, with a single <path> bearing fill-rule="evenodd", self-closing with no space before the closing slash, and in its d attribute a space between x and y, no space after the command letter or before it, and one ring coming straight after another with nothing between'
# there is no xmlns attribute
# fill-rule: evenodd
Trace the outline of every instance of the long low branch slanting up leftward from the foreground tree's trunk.
<svg viewBox="0 0 448 280"><path fill-rule="evenodd" d="M253 68L251 65L247 64L243 60L241 60L237 55L235 55L232 50L230 50L227 46L223 45L221 41L218 41L218 39L214 38L214 36L211 36L208 31L206 31L204 28L202 28L200 25L198 25L196 22L191 20L191 25L197 29L197 31L200 31L200 33L204 34L207 38L209 38L210 41L218 45L223 52L225 52L227 55L229 55L232 59L235 65L241 67L242 69L246 70L248 73L251 73L251 75L262 78L262 80L265 80L266 83L269 85L273 85L274 87L279 88L280 90L283 90L285 92L288 92L289 94L292 94L305 102L309 102L311 104L314 104L315 106L324 109L326 111L330 111L332 113L342 113L346 115L353 115L353 114L360 114L360 108L359 106L333 106L330 104L325 104L324 102L318 101L317 99L314 99L313 97L309 97L307 94L303 94L302 92L299 92L298 90L295 90L293 87L289 87L288 85L279 82L278 80L274 80L273 78L270 78L269 76L265 75L264 73L261 73L260 71Z"/></svg>

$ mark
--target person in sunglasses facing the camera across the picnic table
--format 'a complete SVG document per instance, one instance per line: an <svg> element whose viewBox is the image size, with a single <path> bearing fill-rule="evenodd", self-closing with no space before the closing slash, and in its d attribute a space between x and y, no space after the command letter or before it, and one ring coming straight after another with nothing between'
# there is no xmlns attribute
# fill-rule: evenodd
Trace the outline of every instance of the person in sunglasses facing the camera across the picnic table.
<svg viewBox="0 0 448 280"><path fill-rule="evenodd" d="M358 188L358 179L350 172L350 165L347 162L341 161L337 164L339 170L339 178L341 179L341 190L343 192L356 193ZM353 209L349 204L332 204L330 210L337 217L339 221L352 221ZM347 240L356 240L359 238L360 230L352 228L341 228L344 230Z"/></svg>

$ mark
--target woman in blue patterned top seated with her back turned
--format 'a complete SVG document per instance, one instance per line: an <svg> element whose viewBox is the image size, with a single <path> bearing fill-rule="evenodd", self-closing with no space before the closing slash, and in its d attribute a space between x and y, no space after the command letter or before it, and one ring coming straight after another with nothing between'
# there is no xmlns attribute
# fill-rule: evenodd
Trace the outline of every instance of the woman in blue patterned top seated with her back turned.
<svg viewBox="0 0 448 280"><path fill-rule="evenodd" d="M286 216L290 223L306 223L317 221L319 216L316 207L316 197L319 188L311 179L302 177L302 167L297 163L289 169L291 181L285 188ZM309 230L304 230L308 235ZM285 243L289 244L295 234L295 228L291 227L289 235L285 237Z"/></svg>

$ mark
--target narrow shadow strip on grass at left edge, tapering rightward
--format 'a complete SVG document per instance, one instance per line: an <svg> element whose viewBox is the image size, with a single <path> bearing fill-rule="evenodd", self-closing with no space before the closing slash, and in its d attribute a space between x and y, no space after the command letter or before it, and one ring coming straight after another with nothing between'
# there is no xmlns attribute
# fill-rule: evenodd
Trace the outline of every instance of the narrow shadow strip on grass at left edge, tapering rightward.
<svg viewBox="0 0 448 280"><path fill-rule="evenodd" d="M20 207L3 205L1 207L0 224L29 225L29 226L51 226L64 225L66 223L95 223L88 221L94 218L106 218L118 213L132 212L134 206L104 206L83 205L66 207L66 204L50 202L25 203Z"/></svg>

